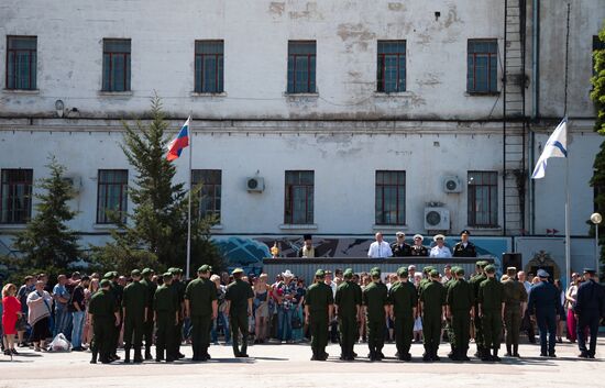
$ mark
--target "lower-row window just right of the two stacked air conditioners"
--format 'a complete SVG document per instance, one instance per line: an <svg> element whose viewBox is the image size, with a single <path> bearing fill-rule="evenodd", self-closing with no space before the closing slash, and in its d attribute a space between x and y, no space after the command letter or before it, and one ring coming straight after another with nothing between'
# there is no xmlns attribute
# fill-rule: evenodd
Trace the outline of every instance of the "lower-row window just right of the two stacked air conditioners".
<svg viewBox="0 0 605 388"><path fill-rule="evenodd" d="M469 171L469 225L498 225L498 173Z"/></svg>

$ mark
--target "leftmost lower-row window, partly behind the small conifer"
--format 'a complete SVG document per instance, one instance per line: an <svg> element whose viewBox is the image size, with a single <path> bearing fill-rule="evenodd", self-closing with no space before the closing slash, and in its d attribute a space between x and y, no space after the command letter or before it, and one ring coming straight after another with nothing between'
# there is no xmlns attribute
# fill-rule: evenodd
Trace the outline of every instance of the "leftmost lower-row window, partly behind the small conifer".
<svg viewBox="0 0 605 388"><path fill-rule="evenodd" d="M1 223L30 221L33 175L33 169L2 169Z"/></svg>

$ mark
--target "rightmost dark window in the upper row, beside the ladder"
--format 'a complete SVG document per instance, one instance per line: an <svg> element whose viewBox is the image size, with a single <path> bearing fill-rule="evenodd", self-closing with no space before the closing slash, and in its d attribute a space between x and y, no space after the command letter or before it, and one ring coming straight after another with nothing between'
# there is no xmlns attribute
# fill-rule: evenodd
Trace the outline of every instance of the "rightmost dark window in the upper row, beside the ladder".
<svg viewBox="0 0 605 388"><path fill-rule="evenodd" d="M498 91L498 43L496 40L469 40L466 90L473 93Z"/></svg>

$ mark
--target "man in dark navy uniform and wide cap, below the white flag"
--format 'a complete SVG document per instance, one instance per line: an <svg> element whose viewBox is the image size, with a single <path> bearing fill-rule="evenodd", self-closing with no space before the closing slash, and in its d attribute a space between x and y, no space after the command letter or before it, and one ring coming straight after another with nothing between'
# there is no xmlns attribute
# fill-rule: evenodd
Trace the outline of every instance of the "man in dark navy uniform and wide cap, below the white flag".
<svg viewBox="0 0 605 388"><path fill-rule="evenodd" d="M557 357L554 354L557 321L563 314L561 297L557 287L548 281L550 275L546 270L539 269L537 275L540 282L531 288L527 309L531 320L537 320L540 329L540 356Z"/></svg>

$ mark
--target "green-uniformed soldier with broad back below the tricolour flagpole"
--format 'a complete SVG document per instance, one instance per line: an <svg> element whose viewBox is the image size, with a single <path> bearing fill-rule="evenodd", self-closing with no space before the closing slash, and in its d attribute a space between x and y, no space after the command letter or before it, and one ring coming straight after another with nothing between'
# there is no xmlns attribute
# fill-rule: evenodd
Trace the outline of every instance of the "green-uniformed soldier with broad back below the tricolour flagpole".
<svg viewBox="0 0 605 388"><path fill-rule="evenodd" d="M210 281L212 267L198 268L198 278L191 280L185 289L185 315L191 320L193 361L210 358L210 324L218 315L217 286Z"/></svg>

